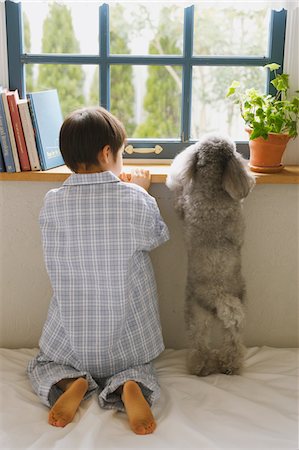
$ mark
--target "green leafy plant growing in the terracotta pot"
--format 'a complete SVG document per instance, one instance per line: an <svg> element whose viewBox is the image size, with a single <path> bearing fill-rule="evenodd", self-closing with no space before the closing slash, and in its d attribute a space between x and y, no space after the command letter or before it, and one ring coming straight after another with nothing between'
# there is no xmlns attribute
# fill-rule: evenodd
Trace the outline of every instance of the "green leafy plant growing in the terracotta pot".
<svg viewBox="0 0 299 450"><path fill-rule="evenodd" d="M238 81L233 81L228 88L226 96L231 96L234 103L240 106L245 124L253 130L251 140L258 137L267 139L269 133L283 133L290 137L296 137L298 134L299 97L287 99L289 75L277 74L279 67L276 63L265 66L274 71L275 77L271 83L277 91L275 96L261 94L253 88L241 91Z"/></svg>

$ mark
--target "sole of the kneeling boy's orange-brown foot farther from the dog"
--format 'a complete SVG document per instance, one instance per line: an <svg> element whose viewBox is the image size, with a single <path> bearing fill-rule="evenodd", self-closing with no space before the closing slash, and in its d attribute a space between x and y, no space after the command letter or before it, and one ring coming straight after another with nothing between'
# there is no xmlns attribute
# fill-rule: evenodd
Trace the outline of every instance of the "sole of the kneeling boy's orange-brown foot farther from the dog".
<svg viewBox="0 0 299 450"><path fill-rule="evenodd" d="M49 412L48 422L54 427L65 427L65 425L72 422L88 389L88 381L85 378L77 378L69 381L65 385L65 389L62 389L65 392L59 397Z"/></svg>

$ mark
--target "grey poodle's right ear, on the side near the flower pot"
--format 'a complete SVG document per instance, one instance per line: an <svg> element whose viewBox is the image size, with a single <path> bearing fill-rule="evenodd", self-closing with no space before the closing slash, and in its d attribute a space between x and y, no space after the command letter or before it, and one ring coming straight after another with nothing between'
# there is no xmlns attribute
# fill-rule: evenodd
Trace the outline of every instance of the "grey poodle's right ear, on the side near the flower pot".
<svg viewBox="0 0 299 450"><path fill-rule="evenodd" d="M242 156L234 153L224 169L222 187L234 200L247 197L255 185L255 178L247 171L245 164Z"/></svg>

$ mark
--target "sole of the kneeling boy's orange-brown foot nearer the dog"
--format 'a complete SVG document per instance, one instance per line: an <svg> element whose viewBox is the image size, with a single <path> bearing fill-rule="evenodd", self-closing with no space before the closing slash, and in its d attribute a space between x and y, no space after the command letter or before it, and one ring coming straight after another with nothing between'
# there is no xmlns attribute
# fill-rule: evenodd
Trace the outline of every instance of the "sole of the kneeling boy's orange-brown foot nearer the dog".
<svg viewBox="0 0 299 450"><path fill-rule="evenodd" d="M128 414L131 429L136 434L150 434L155 431L156 421L151 408L135 381L123 385L122 401Z"/></svg>

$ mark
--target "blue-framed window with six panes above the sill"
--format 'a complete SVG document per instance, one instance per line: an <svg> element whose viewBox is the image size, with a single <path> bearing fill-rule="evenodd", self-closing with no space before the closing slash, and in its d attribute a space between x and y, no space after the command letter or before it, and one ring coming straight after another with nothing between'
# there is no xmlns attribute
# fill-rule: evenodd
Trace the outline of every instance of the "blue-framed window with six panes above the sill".
<svg viewBox="0 0 299 450"><path fill-rule="evenodd" d="M157 149L126 158L170 159L214 131L247 156L239 111L225 94L233 79L270 91L263 66L283 65L286 11L266 4L6 0L10 89L57 88L64 115L110 109L134 149Z"/></svg>

